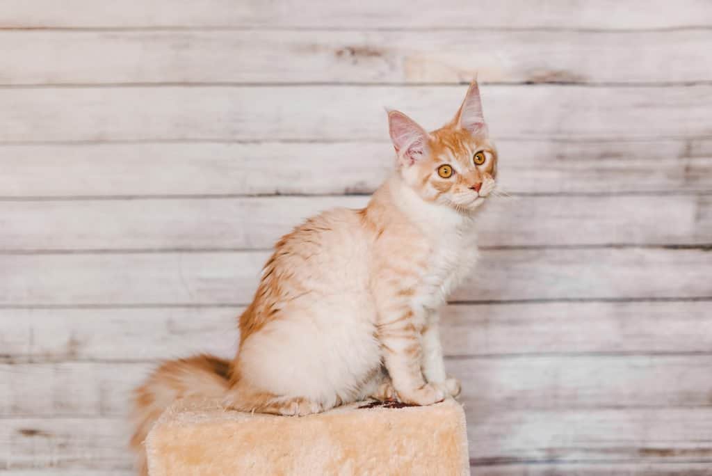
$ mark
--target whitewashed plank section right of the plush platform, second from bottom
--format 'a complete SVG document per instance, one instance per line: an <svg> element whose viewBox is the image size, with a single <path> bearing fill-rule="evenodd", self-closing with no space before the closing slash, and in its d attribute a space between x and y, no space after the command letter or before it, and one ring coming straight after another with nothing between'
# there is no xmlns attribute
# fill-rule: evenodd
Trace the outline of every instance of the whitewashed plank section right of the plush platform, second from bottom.
<svg viewBox="0 0 712 476"><path fill-rule="evenodd" d="M708 408L506 411L466 408L471 461L709 462Z"/></svg>

